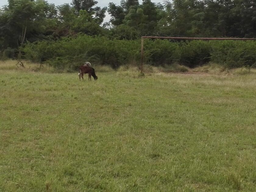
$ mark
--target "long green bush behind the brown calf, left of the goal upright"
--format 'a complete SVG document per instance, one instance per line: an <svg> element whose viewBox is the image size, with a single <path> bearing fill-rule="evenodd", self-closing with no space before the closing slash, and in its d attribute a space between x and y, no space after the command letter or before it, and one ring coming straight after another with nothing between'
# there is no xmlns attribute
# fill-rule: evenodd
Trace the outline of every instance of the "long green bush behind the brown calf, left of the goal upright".
<svg viewBox="0 0 256 192"><path fill-rule="evenodd" d="M47 61L58 68L73 68L89 60L118 68L120 65L138 60L139 50L139 41L108 40L105 37L93 38L87 35L65 37L58 41L28 43L23 48L26 59L34 62Z"/></svg>

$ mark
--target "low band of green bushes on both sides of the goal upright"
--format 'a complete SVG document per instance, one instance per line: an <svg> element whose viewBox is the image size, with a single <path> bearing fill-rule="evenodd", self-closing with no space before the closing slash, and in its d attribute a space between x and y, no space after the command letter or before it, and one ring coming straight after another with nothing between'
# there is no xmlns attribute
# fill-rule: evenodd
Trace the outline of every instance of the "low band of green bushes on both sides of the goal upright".
<svg viewBox="0 0 256 192"><path fill-rule="evenodd" d="M76 69L85 61L108 65L114 69L126 64L140 63L140 40L110 40L106 37L78 35L57 41L27 43L23 52L33 62L49 62L56 68ZM6 55L14 51L8 49ZM152 66L179 63L187 67L208 62L225 68L256 65L255 41L182 41L144 40L144 64Z"/></svg>

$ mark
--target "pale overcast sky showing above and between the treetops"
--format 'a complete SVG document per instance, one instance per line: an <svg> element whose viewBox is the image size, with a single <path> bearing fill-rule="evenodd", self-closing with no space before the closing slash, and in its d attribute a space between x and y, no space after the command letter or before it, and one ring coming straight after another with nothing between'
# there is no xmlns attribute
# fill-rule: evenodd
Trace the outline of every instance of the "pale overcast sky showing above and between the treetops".
<svg viewBox="0 0 256 192"><path fill-rule="evenodd" d="M48 3L54 3L55 5L62 5L64 3L71 3L71 1L72 0L48 0ZM97 6L99 7L108 6L109 2L113 2L113 3L116 3L117 5L120 5L120 0L97 0L97 1L98 1ZM158 2L163 3L162 0L151 0L151 1L155 3L158 3ZM139 0L139 2L141 4L142 0ZM8 0L0 0L0 7L7 4L8 4ZM110 19L110 16L108 15L108 12L106 12L106 17L104 22L109 21L109 19Z"/></svg>

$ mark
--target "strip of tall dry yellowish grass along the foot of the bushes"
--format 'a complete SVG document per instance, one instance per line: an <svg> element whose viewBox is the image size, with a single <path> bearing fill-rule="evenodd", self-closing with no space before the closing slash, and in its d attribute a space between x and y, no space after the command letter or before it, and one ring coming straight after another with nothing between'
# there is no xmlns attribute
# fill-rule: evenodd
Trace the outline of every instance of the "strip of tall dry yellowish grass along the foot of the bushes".
<svg viewBox="0 0 256 192"><path fill-rule="evenodd" d="M5 59L0 60L0 70L23 70L27 72L41 72L41 73L73 73L78 71L80 66L78 63L74 65L74 69L58 69L51 66L48 63L35 63L28 60L21 60L24 64L24 67L19 65L18 60ZM82 65L82 64L81 64ZM119 66L117 69L113 69L111 66L94 64L96 72L121 72L121 71L130 71L134 75L140 75L140 64L126 64ZM178 63L172 63L170 65L160 65L152 66L148 64L143 65L143 72L145 74L151 75L152 73L205 73L205 74L215 74L215 75L247 75L255 74L256 69L250 66L242 66L238 68L229 69L225 66L208 63L202 66L189 68L187 66L180 65Z"/></svg>

